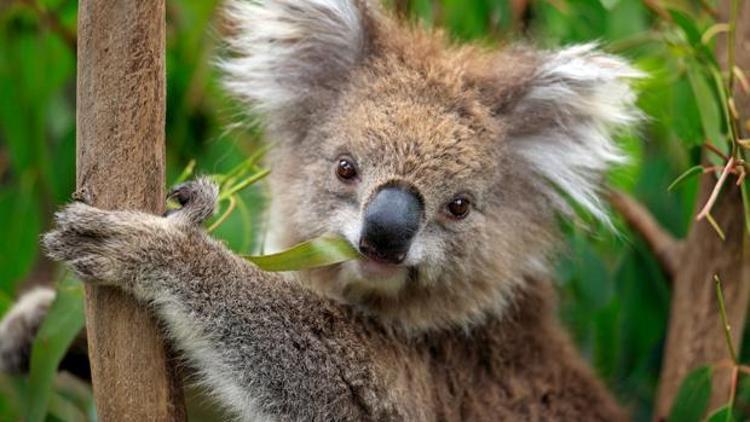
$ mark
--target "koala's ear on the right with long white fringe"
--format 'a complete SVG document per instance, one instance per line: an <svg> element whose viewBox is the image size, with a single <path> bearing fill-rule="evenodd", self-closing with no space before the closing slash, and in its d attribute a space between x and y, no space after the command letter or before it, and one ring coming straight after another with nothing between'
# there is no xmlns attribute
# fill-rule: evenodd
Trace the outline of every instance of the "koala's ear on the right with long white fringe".
<svg viewBox="0 0 750 422"><path fill-rule="evenodd" d="M509 111L509 142L559 209L569 212L568 196L608 222L599 191L609 167L626 161L613 136L640 119L631 83L644 74L591 44L534 62Z"/></svg>

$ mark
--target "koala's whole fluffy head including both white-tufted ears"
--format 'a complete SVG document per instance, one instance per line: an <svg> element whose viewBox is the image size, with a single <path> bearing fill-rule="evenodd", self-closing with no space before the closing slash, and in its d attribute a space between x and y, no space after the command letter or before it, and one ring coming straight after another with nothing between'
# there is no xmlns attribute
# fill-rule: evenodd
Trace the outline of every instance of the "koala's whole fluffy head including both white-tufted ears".
<svg viewBox="0 0 750 422"><path fill-rule="evenodd" d="M228 89L276 147L277 248L337 233L363 259L310 271L324 295L415 329L497 315L545 277L555 214L606 220L611 133L637 119L622 60L457 47L354 0L230 3Z"/></svg>

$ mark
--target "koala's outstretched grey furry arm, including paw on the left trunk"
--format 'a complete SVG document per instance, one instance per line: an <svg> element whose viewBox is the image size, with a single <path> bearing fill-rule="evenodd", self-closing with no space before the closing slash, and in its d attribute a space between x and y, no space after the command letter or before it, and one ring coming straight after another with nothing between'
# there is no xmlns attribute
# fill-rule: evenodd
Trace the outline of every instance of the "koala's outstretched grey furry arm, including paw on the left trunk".
<svg viewBox="0 0 750 422"><path fill-rule="evenodd" d="M183 186L184 207L168 217L75 203L44 243L85 281L152 304L202 381L243 419L390 414L372 345L347 309L248 264L198 227L215 195L204 181Z"/></svg>

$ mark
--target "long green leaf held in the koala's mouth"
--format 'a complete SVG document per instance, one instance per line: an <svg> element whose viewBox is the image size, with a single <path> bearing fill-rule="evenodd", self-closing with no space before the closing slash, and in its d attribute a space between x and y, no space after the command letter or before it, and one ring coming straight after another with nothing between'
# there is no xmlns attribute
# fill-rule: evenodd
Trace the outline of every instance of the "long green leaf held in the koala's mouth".
<svg viewBox="0 0 750 422"><path fill-rule="evenodd" d="M323 235L275 254L243 256L265 271L326 267L359 257L359 252L346 239L332 235Z"/></svg>

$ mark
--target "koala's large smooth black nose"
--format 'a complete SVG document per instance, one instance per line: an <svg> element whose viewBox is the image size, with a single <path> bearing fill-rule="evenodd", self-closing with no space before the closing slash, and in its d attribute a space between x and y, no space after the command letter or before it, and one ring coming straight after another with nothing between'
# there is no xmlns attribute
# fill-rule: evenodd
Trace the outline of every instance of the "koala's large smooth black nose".
<svg viewBox="0 0 750 422"><path fill-rule="evenodd" d="M360 252L376 261L401 263L419 230L421 217L422 201L416 193L402 187L381 189L365 210Z"/></svg>

